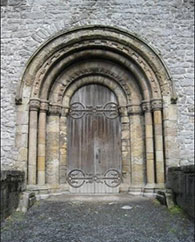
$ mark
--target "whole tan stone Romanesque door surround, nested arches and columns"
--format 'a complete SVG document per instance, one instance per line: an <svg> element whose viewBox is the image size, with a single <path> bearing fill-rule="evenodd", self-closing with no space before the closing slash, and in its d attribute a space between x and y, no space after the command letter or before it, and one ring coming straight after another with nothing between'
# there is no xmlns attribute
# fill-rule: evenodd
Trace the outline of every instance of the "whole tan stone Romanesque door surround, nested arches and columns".
<svg viewBox="0 0 195 242"><path fill-rule="evenodd" d="M16 97L18 115L29 117L28 156L18 159L24 164L28 187L70 190L70 102L79 88L93 84L105 86L117 98L122 125L119 190L137 194L163 189L175 151L176 118L170 115L176 110L176 98L171 78L144 41L103 26L62 31L28 62Z"/></svg>

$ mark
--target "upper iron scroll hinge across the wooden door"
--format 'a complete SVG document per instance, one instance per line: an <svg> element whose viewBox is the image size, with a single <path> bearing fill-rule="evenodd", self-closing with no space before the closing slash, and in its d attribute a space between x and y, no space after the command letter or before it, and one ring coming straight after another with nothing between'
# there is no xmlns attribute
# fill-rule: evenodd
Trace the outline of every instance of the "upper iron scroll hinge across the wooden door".
<svg viewBox="0 0 195 242"><path fill-rule="evenodd" d="M80 102L72 103L70 106L70 116L74 119L80 119L84 115L103 114L108 119L115 119L119 116L118 105L114 102L106 103L104 106L97 105L85 106Z"/></svg>

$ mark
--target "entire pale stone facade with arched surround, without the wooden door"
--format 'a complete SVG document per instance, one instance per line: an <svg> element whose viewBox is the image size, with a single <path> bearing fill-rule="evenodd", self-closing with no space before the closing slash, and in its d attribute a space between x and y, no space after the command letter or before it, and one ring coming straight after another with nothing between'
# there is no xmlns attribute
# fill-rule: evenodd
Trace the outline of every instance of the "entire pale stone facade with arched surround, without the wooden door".
<svg viewBox="0 0 195 242"><path fill-rule="evenodd" d="M71 100L93 84L117 100L121 191L161 189L168 167L192 164L193 5L1 1L2 168L25 171L29 188L71 190L68 120L84 110Z"/></svg>

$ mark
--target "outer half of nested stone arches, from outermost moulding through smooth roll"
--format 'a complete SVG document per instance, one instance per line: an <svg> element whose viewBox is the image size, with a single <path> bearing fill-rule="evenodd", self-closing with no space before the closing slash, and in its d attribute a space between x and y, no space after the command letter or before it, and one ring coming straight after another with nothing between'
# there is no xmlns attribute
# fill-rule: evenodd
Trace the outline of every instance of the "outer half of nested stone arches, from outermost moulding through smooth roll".
<svg viewBox="0 0 195 242"><path fill-rule="evenodd" d="M88 26L62 31L37 50L23 75L17 100L22 98L24 85L32 86L31 98L40 98L41 90L50 89L64 68L95 57L111 60L131 72L141 92L146 88L151 92L150 97L144 95L146 100L175 96L163 62L144 41L120 29Z"/></svg>

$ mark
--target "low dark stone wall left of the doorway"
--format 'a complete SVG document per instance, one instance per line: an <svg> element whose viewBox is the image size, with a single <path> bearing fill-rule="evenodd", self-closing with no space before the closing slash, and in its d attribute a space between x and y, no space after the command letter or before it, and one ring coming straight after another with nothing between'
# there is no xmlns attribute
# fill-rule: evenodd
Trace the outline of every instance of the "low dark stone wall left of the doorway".
<svg viewBox="0 0 195 242"><path fill-rule="evenodd" d="M8 217L19 205L24 190L24 172L1 172L1 220Z"/></svg>

